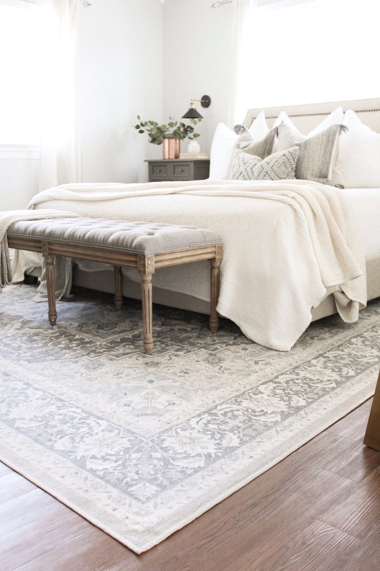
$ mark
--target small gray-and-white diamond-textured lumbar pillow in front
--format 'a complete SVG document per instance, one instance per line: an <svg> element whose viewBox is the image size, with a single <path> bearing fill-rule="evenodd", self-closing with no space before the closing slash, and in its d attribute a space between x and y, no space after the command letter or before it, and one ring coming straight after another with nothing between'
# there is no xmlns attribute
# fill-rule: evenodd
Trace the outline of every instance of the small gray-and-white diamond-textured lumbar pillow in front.
<svg viewBox="0 0 380 571"><path fill-rule="evenodd" d="M300 148L296 146L261 159L236 148L232 157L230 180L294 179L299 153Z"/></svg>

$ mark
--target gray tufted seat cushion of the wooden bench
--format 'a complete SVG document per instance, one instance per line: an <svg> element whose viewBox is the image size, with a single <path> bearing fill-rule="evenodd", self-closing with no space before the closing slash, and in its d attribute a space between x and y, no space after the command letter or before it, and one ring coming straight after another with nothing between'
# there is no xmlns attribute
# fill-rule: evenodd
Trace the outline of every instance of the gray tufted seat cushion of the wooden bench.
<svg viewBox="0 0 380 571"><path fill-rule="evenodd" d="M145 255L222 243L219 234L205 228L104 218L22 220L11 224L7 235L49 242L75 242Z"/></svg>

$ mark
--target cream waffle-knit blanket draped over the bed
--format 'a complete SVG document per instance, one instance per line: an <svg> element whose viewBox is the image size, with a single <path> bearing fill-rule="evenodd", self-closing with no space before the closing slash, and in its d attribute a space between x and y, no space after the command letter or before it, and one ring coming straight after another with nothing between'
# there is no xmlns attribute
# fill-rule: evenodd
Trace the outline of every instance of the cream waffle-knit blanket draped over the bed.
<svg viewBox="0 0 380 571"><path fill-rule="evenodd" d="M28 208L215 230L224 242L220 315L280 351L291 349L310 309L329 293L345 321L357 320L366 304L361 236L337 188L303 180L65 184L40 192ZM29 254L19 256L15 279L35 265ZM153 283L210 299L206 262L162 268Z"/></svg>

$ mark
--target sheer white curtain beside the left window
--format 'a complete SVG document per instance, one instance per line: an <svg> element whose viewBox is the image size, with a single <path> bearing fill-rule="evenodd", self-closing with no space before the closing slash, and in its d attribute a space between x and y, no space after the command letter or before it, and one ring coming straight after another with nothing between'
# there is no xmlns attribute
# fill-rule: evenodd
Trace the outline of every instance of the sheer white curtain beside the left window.
<svg viewBox="0 0 380 571"><path fill-rule="evenodd" d="M40 190L81 182L77 41L81 0L37 0L40 24Z"/></svg>

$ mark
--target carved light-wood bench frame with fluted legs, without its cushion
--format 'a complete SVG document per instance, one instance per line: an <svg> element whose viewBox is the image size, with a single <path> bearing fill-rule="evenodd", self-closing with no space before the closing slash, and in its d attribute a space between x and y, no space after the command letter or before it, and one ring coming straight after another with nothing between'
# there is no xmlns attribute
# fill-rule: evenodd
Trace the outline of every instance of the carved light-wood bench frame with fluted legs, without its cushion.
<svg viewBox="0 0 380 571"><path fill-rule="evenodd" d="M219 317L216 311L216 305L218 304L219 298L219 268L223 257L222 244L187 248L186 250L178 251L171 250L170 252L161 252L160 254L151 255L133 254L123 251L122 249L103 248L101 246L93 246L92 244L83 246L68 240L63 243L55 242L54 240L42 241L29 237L19 238L9 236L8 245L10 248L15 248L15 250L28 250L31 252L39 252L43 255L46 262L48 318L51 325L55 325L57 321L54 276L55 256L113 264L115 268L115 307L117 309L120 309L122 305L121 267L136 268L141 275L142 321L144 325L143 346L144 352L147 355L152 355L153 352L152 275L158 268L198 262L199 260L210 260L210 329L213 333L218 331Z"/></svg>

